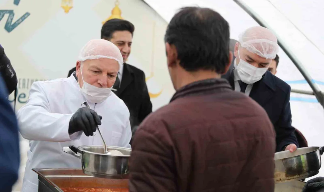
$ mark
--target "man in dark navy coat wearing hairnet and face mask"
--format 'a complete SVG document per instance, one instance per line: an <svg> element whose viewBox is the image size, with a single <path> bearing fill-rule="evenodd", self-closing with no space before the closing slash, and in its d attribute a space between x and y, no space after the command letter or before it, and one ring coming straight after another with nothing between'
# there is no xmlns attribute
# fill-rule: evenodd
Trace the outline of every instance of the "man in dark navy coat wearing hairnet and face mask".
<svg viewBox="0 0 324 192"><path fill-rule="evenodd" d="M291 126L291 88L268 71L278 51L277 38L269 29L251 27L240 34L234 50L234 67L223 78L235 91L249 95L267 111L276 131L276 151L294 152L298 142Z"/></svg>

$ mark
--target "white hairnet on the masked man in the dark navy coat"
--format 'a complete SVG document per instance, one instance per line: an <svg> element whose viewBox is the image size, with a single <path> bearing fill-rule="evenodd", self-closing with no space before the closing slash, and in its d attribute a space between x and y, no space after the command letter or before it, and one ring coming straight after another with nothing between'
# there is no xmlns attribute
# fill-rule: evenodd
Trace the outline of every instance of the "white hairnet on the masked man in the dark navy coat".
<svg viewBox="0 0 324 192"><path fill-rule="evenodd" d="M276 36L267 28L256 26L241 33L238 42L249 52L266 59L274 59L279 51Z"/></svg>

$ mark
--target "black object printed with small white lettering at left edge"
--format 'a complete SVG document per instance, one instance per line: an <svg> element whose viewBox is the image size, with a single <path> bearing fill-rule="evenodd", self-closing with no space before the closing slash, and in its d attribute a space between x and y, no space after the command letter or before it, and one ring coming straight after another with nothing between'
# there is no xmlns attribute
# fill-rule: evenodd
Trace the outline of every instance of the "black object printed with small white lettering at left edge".
<svg viewBox="0 0 324 192"><path fill-rule="evenodd" d="M0 74L6 84L8 95L10 95L17 87L17 75L12 67L9 58L5 54L4 48L0 45Z"/></svg>

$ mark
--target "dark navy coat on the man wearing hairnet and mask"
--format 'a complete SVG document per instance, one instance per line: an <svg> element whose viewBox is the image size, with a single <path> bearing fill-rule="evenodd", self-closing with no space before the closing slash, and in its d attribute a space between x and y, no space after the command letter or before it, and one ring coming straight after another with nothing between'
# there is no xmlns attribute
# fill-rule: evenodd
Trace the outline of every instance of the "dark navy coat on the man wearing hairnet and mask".
<svg viewBox="0 0 324 192"><path fill-rule="evenodd" d="M231 66L222 78L227 79L234 89L233 70L234 67ZM298 147L295 128L291 126L290 90L287 83L267 71L260 81L253 84L249 95L268 113L276 131L277 152L284 150L289 144Z"/></svg>

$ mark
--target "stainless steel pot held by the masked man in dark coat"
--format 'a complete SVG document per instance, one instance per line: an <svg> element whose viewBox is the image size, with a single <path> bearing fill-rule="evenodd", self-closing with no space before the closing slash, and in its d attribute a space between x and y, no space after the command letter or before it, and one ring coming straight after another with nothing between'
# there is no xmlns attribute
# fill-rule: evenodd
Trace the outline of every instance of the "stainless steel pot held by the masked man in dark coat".
<svg viewBox="0 0 324 192"><path fill-rule="evenodd" d="M324 147L302 147L295 152L281 151L274 154L275 183L305 179L318 174Z"/></svg>

